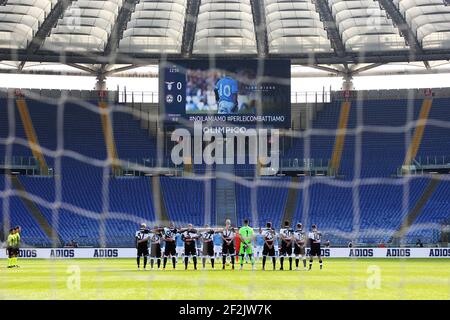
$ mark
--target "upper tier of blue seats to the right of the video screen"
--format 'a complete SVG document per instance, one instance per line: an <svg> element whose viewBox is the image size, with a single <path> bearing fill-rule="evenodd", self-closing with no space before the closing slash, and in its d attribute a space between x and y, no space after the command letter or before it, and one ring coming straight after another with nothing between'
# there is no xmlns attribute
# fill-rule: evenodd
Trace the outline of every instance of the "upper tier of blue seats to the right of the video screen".
<svg viewBox="0 0 450 320"><path fill-rule="evenodd" d="M342 160L339 174L345 179L353 179L355 174L355 149L356 139L361 141L361 177L389 177L395 175L397 169L402 165L407 147L405 141L407 135L409 140L413 135L413 130L407 130L406 126L411 121L419 119L420 108L423 100L415 99L408 102L404 99L389 100L362 100L353 102L350 109L345 143L342 151ZM429 119L432 121L448 117L449 100L440 98L434 99L430 111ZM322 111L319 111L318 118L311 123L313 133L303 131L302 138L293 138L293 146L287 148L284 153L285 159L314 159L317 162L327 163L333 154L334 137L317 131L337 130L339 114L341 110L340 102L336 101L326 104ZM369 127L360 136L354 134L357 128L358 119L360 125ZM380 132L377 126L385 126L397 132ZM372 129L370 129L372 128ZM398 128L405 128L405 132L398 132ZM391 131L392 131L391 130ZM407 135L406 135L407 134ZM448 135L448 129L436 126L426 126L422 143L420 144L417 157L437 157L442 159L446 156L445 146L441 146L439 137ZM305 149L305 141L309 139L309 155ZM448 143L448 142L443 142ZM442 148L444 147L444 148ZM389 150L390 152L386 152ZM380 153L384 156L381 161Z"/></svg>

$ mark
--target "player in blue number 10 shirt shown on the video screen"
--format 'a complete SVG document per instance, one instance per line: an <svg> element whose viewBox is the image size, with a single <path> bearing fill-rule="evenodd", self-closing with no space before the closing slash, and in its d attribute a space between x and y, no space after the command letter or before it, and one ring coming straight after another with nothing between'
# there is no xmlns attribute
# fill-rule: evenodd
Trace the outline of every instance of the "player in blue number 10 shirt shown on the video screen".
<svg viewBox="0 0 450 320"><path fill-rule="evenodd" d="M238 111L238 91L238 82L233 78L225 76L216 82L214 93L219 114L232 114Z"/></svg>

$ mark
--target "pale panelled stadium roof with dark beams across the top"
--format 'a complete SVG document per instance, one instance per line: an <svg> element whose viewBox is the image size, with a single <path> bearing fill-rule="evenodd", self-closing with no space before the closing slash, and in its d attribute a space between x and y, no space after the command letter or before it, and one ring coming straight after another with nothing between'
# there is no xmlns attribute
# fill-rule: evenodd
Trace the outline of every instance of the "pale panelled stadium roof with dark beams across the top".
<svg viewBox="0 0 450 320"><path fill-rule="evenodd" d="M19 71L27 62L107 72L113 65L211 55L306 65L448 61L450 3L7 0L0 6L0 60L18 62Z"/></svg>

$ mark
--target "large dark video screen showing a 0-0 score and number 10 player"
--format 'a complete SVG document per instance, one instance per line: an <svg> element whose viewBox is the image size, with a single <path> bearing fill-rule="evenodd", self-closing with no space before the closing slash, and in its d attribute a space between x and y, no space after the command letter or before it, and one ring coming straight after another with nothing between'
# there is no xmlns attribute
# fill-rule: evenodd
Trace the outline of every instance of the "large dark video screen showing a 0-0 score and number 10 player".
<svg viewBox="0 0 450 320"><path fill-rule="evenodd" d="M289 127L289 60L173 60L160 65L166 121Z"/></svg>

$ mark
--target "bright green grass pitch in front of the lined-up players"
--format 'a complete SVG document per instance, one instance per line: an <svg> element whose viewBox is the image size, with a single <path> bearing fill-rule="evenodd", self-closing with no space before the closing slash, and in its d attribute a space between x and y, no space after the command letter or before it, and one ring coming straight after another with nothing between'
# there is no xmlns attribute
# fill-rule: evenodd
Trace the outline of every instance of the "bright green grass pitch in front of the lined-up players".
<svg viewBox="0 0 450 320"><path fill-rule="evenodd" d="M243 271L137 271L135 264L22 259L21 268L0 269L0 299L450 299L448 259L329 259L323 270L315 262L312 271L275 272L250 265ZM367 286L373 266L380 288Z"/></svg>

